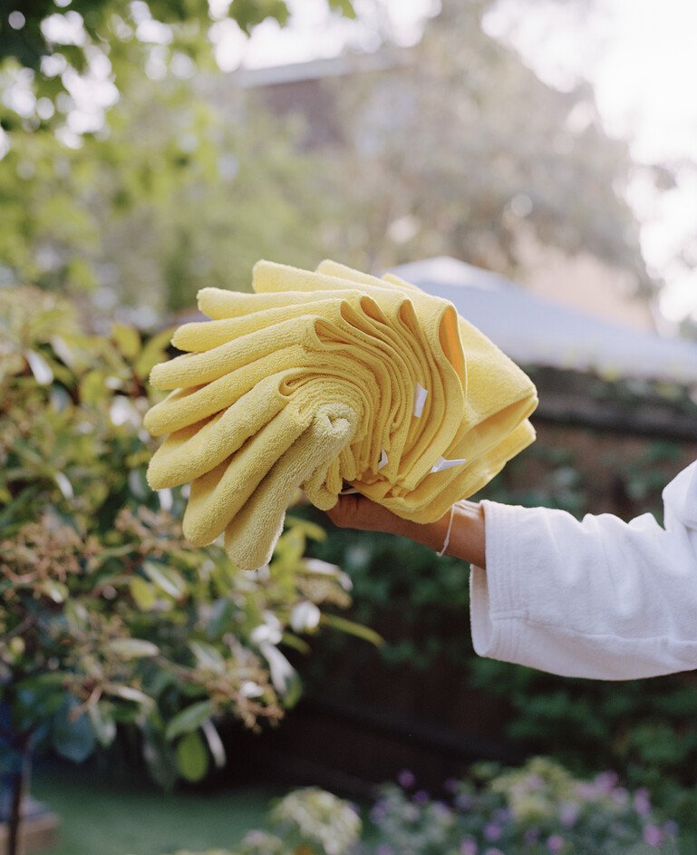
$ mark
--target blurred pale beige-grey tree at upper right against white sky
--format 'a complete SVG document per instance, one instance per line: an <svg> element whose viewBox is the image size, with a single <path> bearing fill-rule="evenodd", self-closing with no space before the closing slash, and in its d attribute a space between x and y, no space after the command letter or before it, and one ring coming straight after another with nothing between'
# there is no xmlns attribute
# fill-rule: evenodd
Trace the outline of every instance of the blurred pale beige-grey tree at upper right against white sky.
<svg viewBox="0 0 697 855"><path fill-rule="evenodd" d="M343 257L375 270L448 254L515 275L526 249L552 246L592 253L651 292L624 198L628 146L605 133L589 86L550 88L483 31L488 5L444 0L405 63L337 83Z"/></svg>

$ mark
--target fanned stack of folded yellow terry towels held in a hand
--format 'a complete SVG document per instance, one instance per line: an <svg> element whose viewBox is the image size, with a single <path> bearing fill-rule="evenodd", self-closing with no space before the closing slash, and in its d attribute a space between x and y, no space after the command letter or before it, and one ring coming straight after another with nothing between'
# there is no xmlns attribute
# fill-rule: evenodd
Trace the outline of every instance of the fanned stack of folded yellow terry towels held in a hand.
<svg viewBox="0 0 697 855"><path fill-rule="evenodd" d="M148 480L191 483L192 543L224 534L261 567L298 487L323 510L351 488L432 522L534 440L535 387L447 300L333 261L259 261L253 287L199 291L210 320L150 375L169 395L145 420L168 434Z"/></svg>

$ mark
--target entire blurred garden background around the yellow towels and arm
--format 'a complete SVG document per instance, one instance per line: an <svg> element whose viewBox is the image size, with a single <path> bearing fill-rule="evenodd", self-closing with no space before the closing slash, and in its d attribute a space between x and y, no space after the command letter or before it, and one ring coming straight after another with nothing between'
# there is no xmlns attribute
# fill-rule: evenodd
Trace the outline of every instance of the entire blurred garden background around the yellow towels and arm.
<svg viewBox="0 0 697 855"><path fill-rule="evenodd" d="M694 851L691 674L480 660L461 562L309 508L240 581L148 491L141 419L198 288L247 290L262 257L396 268L537 384L538 440L482 496L660 520L697 452L696 30L681 0L2 5L0 753L5 817L30 767L48 806L28 846L57 816L56 855L265 822L281 848L245 851L356 851L344 802L264 819L318 785L381 855L673 851L673 821ZM472 802L472 763L478 792L547 782L539 816Z"/></svg>

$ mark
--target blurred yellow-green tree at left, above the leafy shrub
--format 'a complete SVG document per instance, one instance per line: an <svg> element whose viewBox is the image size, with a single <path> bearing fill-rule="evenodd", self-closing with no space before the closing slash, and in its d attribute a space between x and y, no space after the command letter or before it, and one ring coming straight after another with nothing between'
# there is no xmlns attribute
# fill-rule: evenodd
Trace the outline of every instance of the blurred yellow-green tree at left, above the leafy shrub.
<svg viewBox="0 0 697 855"><path fill-rule="evenodd" d="M214 110L198 80L133 80L78 149L16 131L0 161L0 278L161 312L248 287L259 257L312 265L327 202L292 128ZM96 290L95 290L96 289ZM153 310L156 314L153 314Z"/></svg>

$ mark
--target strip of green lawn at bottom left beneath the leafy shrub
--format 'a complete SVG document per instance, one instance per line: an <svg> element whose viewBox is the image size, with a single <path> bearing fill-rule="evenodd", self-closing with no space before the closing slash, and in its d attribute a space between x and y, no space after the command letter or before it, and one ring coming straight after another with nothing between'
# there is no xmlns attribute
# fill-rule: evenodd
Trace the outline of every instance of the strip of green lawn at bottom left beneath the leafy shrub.
<svg viewBox="0 0 697 855"><path fill-rule="evenodd" d="M165 793L148 782L109 782L63 766L34 775L32 795L61 819L46 855L163 855L237 843L263 824L270 799L259 788Z"/></svg>

